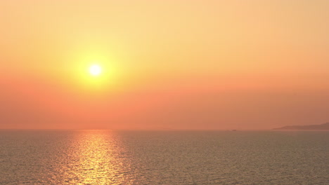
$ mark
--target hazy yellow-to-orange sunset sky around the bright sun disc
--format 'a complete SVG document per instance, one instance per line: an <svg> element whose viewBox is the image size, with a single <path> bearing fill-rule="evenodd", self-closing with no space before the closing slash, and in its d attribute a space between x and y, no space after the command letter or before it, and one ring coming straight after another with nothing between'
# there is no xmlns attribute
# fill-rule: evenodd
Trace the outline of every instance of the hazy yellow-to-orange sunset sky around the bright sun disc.
<svg viewBox="0 0 329 185"><path fill-rule="evenodd" d="M328 0L1 0L0 129L325 123L328 10Z"/></svg>

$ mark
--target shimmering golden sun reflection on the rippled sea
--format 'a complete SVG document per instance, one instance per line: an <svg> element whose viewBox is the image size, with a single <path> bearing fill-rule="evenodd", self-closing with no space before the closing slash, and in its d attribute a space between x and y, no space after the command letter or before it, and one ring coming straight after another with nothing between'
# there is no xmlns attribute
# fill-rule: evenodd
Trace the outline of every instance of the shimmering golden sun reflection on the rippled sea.
<svg viewBox="0 0 329 185"><path fill-rule="evenodd" d="M133 184L128 179L129 162L120 158L124 149L110 131L82 130L72 140L66 164L58 169L60 184Z"/></svg>

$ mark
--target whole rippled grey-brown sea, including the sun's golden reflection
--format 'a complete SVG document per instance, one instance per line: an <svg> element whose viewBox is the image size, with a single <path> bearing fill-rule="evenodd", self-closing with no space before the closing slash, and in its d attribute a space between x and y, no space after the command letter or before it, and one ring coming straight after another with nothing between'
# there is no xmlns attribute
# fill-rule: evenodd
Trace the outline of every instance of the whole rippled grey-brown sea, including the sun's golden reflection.
<svg viewBox="0 0 329 185"><path fill-rule="evenodd" d="M0 130L0 184L329 184L329 132Z"/></svg>

